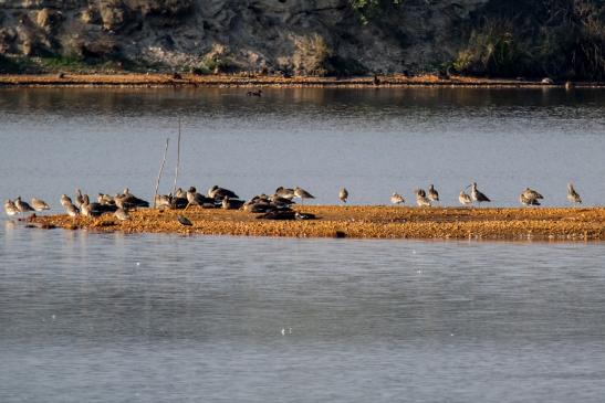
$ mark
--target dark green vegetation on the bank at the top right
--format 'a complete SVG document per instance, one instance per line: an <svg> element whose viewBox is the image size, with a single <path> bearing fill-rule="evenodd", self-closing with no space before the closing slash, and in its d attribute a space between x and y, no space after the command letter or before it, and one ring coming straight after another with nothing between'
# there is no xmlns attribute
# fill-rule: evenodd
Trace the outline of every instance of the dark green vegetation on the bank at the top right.
<svg viewBox="0 0 605 403"><path fill-rule="evenodd" d="M605 79L605 2L514 0L488 7L452 67L471 75Z"/></svg>

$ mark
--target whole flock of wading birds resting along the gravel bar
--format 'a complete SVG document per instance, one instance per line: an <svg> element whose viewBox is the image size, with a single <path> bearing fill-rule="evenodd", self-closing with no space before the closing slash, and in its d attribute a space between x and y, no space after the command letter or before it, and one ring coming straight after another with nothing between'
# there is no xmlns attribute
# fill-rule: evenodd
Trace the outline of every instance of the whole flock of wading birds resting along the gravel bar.
<svg viewBox="0 0 605 403"><path fill-rule="evenodd" d="M470 194L466 191L470 188ZM177 189L175 194L156 194L154 198L154 206L158 209L175 209L187 210L190 205L198 205L204 209L218 209L226 210L242 209L250 213L260 214L258 219L265 220L312 220L315 219L313 214L295 212L291 209L294 204L293 199L300 199L304 203L305 199L315 199L311 193L301 188L283 188L280 187L272 195L259 194L250 199L249 201L240 200L239 197L231 190L213 185L208 189L206 195L197 192L195 187L184 191ZM416 189L416 204L421 208L430 208L432 203L439 201L439 193L432 184L429 185L428 191L424 189ZM338 199L341 202L346 203L348 199L348 191L342 188L338 192ZM523 205L540 205L540 200L544 199L538 191L526 188L520 195L519 201ZM582 203L580 194L575 191L572 183L567 183L567 200L572 204ZM472 203L490 202L491 200L477 189L477 183L471 183L458 195L458 201L462 205L469 205ZM393 204L403 204L405 199L399 193L393 193L390 195L390 202ZM65 212L74 220L77 215L83 216L100 216L105 213L112 213L119 221L129 220L128 212L138 208L148 208L149 202L137 198L132 194L128 188L124 189L124 192L116 195L109 195L98 193L97 201L92 202L87 194L83 194L80 189L75 192L75 203L66 194L61 195L61 204L65 209ZM18 197L14 201L7 200L4 202L4 211L8 215L13 216L18 214L25 214L29 212L42 212L50 210L46 202L40 199L33 198L31 204L21 200ZM177 215L177 220L182 225L192 225L191 222L184 215Z"/></svg>

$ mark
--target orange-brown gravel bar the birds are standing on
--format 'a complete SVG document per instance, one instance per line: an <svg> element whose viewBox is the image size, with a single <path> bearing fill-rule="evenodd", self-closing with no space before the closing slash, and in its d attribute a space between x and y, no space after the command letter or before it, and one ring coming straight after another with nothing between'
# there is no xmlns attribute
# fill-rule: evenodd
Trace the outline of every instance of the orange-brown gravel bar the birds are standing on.
<svg viewBox="0 0 605 403"><path fill-rule="evenodd" d="M239 210L190 208L187 211L139 210L121 222L113 215L32 216L29 225L42 229L88 230L123 233L204 235L353 237L353 238L459 238L604 241L605 208L407 208L407 206L295 206L315 220L259 220ZM192 225L177 221L181 214Z"/></svg>

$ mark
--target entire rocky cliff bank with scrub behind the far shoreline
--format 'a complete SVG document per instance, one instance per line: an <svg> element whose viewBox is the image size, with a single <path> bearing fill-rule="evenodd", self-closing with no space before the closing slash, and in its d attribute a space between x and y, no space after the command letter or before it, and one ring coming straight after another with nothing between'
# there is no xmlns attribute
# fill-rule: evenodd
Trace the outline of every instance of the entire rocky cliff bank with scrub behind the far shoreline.
<svg viewBox="0 0 605 403"><path fill-rule="evenodd" d="M199 73L359 74L447 64L470 74L605 79L603 0L373 0L367 23L353 3L0 0L0 55Z"/></svg>

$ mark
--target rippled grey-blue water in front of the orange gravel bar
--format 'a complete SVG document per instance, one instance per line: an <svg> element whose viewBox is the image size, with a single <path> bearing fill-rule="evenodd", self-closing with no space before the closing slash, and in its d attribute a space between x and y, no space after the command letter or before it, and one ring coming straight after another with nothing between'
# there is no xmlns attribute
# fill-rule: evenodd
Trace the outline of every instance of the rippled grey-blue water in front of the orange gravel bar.
<svg viewBox="0 0 605 403"><path fill-rule="evenodd" d="M0 229L2 402L603 397L602 244Z"/></svg>

